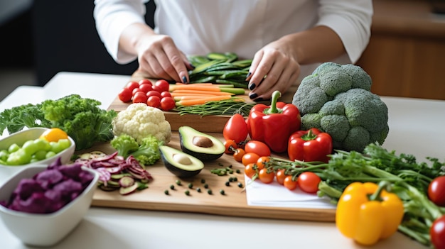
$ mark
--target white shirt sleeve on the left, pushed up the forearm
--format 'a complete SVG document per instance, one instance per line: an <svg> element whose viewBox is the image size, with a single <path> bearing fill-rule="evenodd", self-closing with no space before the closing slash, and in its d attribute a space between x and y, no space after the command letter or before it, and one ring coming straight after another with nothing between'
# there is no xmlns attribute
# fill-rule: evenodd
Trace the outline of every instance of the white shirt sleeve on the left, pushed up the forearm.
<svg viewBox="0 0 445 249"><path fill-rule="evenodd" d="M145 23L146 6L141 0L95 0L96 30L114 61L127 64L136 55L119 50L119 37L132 23Z"/></svg>

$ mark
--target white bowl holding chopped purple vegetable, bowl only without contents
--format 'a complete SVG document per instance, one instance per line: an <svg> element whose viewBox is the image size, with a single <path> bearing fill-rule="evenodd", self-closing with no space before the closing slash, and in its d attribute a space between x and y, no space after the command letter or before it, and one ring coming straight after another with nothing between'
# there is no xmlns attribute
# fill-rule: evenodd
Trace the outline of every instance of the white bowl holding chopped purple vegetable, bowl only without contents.
<svg viewBox="0 0 445 249"><path fill-rule="evenodd" d="M47 165L33 165L17 172L0 187L0 200L8 200L23 178L31 178ZM26 245L51 246L65 238L77 226L90 208L97 187L97 171L82 167L94 175L88 187L62 209L51 214L30 214L14 211L0 205L0 217L9 231Z"/></svg>

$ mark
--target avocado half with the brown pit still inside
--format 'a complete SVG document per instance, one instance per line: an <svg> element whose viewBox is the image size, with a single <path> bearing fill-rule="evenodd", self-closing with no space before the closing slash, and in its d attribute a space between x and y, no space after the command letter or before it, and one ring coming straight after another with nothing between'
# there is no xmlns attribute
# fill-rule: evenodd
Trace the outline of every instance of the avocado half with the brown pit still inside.
<svg viewBox="0 0 445 249"><path fill-rule="evenodd" d="M224 143L218 138L196 131L190 126L179 127L178 133L181 150L201 161L218 159L225 152Z"/></svg>

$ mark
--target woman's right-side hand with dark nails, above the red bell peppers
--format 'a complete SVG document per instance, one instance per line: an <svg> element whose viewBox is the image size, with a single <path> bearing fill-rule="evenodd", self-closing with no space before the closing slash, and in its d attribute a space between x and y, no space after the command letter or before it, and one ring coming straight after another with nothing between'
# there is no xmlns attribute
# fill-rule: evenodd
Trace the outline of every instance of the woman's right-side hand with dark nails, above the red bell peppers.
<svg viewBox="0 0 445 249"><path fill-rule="evenodd" d="M249 96L255 101L270 99L272 92L286 92L296 82L300 65L291 40L284 37L255 53L250 67Z"/></svg>

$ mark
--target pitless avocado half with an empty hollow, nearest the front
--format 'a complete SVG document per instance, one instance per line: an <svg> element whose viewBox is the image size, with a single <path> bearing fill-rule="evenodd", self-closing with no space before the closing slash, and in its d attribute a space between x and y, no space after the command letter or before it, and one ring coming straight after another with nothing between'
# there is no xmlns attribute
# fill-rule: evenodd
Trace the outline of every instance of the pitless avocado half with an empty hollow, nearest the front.
<svg viewBox="0 0 445 249"><path fill-rule="evenodd" d="M161 145L159 151L167 170L177 177L194 177L204 168L204 163L201 160L181 150Z"/></svg>

